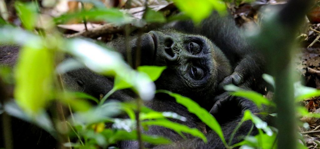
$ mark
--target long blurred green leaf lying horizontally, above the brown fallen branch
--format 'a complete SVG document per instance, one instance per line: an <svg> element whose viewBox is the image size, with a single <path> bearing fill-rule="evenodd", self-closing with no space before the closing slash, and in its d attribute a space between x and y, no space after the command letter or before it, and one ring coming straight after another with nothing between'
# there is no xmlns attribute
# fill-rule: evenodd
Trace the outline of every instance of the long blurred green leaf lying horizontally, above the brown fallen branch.
<svg viewBox="0 0 320 149"><path fill-rule="evenodd" d="M106 21L108 23L115 23L115 24L125 24L125 23L129 23L132 20L128 14L126 14L125 12L119 11L118 9L99 8L99 9L92 9L89 11L67 13L67 14L61 15L58 18L55 18L54 21L57 24L62 24L67 22L70 19L82 20L83 18L86 18L87 20L92 20L92 21Z"/></svg>

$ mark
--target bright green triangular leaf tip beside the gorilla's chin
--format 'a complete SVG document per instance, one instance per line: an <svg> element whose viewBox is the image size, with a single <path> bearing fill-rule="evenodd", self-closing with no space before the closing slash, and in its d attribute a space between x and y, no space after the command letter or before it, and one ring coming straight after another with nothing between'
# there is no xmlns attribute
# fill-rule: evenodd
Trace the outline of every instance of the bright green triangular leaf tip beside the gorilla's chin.
<svg viewBox="0 0 320 149"><path fill-rule="evenodd" d="M139 66L137 70L146 73L152 81L156 81L166 68L166 66Z"/></svg>

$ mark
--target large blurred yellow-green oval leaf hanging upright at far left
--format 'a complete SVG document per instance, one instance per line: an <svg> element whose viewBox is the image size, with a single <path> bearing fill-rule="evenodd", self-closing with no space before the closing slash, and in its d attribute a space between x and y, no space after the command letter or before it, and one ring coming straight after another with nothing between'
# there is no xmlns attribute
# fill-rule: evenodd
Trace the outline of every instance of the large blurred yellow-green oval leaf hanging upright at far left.
<svg viewBox="0 0 320 149"><path fill-rule="evenodd" d="M16 66L15 98L28 114L41 111L52 93L53 53L45 47L25 45Z"/></svg>

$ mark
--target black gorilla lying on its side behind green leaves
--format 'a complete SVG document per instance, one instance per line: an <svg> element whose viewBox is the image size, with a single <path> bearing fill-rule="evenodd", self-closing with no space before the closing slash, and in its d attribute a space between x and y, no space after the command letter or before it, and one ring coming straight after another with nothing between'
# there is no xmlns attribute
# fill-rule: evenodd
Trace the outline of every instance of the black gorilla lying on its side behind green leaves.
<svg viewBox="0 0 320 149"><path fill-rule="evenodd" d="M115 48L128 61L124 41L124 37L119 36L108 45ZM0 63L14 65L19 48L6 45L1 46L0 49ZM249 109L252 113L260 112L251 101L230 96L221 88L223 85L232 83L258 92L264 90L261 79L264 72L262 56L244 38L231 17L220 17L214 12L199 26L191 21L178 21L142 34L141 40L138 40L137 35L132 35L130 49L131 63L134 65L140 62L139 65L167 66L155 82L156 89L164 89L189 97L210 111L220 123L227 142L241 120L244 110ZM10 56L7 55L9 52ZM141 53L140 56L139 53ZM63 83L72 90L82 91L97 98L108 93L113 87L113 78L100 76L85 68L67 72L62 78ZM135 97L131 90L120 90L109 98L131 101ZM195 115L190 114L187 108L176 103L167 94L157 93L152 101L144 104L156 111L171 111L187 118L186 122L176 120L178 123L199 130L206 129ZM13 119L13 121L18 120ZM28 128L34 126L29 124L25 126L27 128L21 127L20 122L12 125L16 148L20 145L32 148L50 146L54 148L56 142L46 132L28 132ZM240 137L247 135L251 127L251 122L243 123L232 143L239 142ZM214 131L207 129L204 132L206 132L208 143L190 135L186 135L187 140L184 140L173 130L159 126L152 126L143 133L160 135L174 142L171 145L157 146L145 144L147 148L224 148ZM253 130L251 134L256 133L256 130ZM24 137L25 135L36 137ZM39 137L40 135L46 137ZM117 147L138 148L138 143L122 141L117 144Z"/></svg>

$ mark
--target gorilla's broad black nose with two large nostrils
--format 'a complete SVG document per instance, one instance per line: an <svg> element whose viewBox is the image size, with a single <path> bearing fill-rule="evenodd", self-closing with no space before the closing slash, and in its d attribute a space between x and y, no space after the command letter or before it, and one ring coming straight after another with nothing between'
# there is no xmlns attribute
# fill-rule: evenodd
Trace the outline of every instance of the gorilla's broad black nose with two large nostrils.
<svg viewBox="0 0 320 149"><path fill-rule="evenodd" d="M175 61L178 57L174 52L174 39L168 35L164 36L164 53L169 61Z"/></svg>

